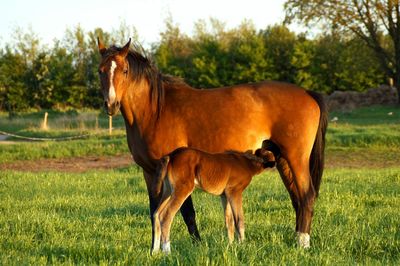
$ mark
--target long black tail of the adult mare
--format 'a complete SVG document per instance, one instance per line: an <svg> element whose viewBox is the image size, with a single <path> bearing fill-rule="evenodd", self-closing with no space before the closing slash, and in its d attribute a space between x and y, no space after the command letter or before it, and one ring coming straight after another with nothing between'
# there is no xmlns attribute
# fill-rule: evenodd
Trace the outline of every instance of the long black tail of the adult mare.
<svg viewBox="0 0 400 266"><path fill-rule="evenodd" d="M318 196L322 173L324 171L325 133L328 126L328 108L321 94L314 91L307 91L307 93L318 103L320 109L317 136L315 137L310 157L310 174L316 196Z"/></svg>

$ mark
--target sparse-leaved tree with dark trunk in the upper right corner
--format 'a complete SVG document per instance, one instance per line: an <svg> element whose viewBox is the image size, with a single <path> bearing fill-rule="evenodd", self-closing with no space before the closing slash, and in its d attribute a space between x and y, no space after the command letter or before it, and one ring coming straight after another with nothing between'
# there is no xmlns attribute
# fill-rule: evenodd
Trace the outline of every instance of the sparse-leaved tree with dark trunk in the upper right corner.
<svg viewBox="0 0 400 266"><path fill-rule="evenodd" d="M321 23L362 39L374 51L385 74L394 80L400 103L399 0L287 0L285 10L288 22Z"/></svg>

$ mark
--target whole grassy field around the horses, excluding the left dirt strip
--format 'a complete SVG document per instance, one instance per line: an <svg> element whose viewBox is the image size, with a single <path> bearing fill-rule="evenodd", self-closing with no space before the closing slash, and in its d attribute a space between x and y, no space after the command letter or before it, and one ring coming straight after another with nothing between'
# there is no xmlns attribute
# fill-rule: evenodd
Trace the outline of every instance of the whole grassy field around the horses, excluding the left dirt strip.
<svg viewBox="0 0 400 266"><path fill-rule="evenodd" d="M178 215L171 232L172 255L153 257L139 168L8 170L0 174L0 264L399 265L400 108L363 108L331 114L335 116L338 120L327 135L327 169L309 250L296 246L294 212L275 170L255 177L245 192L244 243L228 245L219 199L196 191L193 200L203 241L190 241ZM98 130L82 123L63 129L55 123L45 132L36 129L40 117L31 117L27 121L33 125L23 127L23 122L16 125L3 115L0 129L27 136ZM127 147L123 131L117 131L69 142L0 145L0 151L0 163L5 163L118 155L127 153Z"/></svg>

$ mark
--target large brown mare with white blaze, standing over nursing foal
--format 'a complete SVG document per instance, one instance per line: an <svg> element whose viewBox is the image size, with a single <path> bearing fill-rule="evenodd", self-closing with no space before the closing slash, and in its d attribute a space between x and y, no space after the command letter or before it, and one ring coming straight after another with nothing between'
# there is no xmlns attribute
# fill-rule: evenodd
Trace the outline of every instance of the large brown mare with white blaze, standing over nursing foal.
<svg viewBox="0 0 400 266"><path fill-rule="evenodd" d="M255 150L270 139L281 150L277 168L296 211L299 243L310 245L327 127L321 95L270 81L198 90L161 74L143 53L129 48L130 40L122 48L100 41L98 46L105 106L109 115L121 110L125 119L129 149L143 168L152 223L161 195L151 184L161 157L179 147ZM180 210L189 233L200 239L190 196Z"/></svg>

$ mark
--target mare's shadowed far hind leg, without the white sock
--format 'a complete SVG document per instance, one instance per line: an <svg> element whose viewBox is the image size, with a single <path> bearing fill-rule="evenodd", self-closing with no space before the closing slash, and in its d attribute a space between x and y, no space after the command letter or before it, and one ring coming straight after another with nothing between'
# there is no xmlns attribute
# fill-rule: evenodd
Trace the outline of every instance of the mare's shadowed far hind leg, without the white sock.
<svg viewBox="0 0 400 266"><path fill-rule="evenodd" d="M289 192L290 199L292 201L292 206L296 212L296 232L299 230L299 196L297 192L296 184L294 183L294 177L292 170L290 170L289 164L285 158L280 157L277 161L276 168L282 178L283 183L287 191Z"/></svg>

